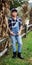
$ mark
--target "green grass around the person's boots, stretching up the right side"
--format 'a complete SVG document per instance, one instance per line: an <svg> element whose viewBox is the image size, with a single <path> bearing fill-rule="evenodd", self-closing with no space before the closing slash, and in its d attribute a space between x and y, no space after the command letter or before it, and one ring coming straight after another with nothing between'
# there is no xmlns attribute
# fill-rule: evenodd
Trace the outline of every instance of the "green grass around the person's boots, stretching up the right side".
<svg viewBox="0 0 32 65"><path fill-rule="evenodd" d="M24 60L19 58L12 59L12 49L9 49L9 55L4 55L0 58L0 65L32 65L32 32L23 38L22 54Z"/></svg>

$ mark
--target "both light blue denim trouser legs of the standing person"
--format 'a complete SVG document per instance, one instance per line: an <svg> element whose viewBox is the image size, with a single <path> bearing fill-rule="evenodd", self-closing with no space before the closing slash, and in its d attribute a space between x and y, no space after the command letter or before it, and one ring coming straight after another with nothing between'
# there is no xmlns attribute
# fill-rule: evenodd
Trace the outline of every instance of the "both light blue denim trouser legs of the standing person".
<svg viewBox="0 0 32 65"><path fill-rule="evenodd" d="M22 39L21 36L11 36L12 39L12 47L13 47L13 52L16 52L16 41L18 42L18 52L21 52L22 49Z"/></svg>

